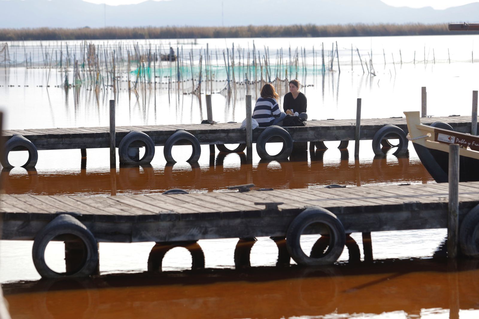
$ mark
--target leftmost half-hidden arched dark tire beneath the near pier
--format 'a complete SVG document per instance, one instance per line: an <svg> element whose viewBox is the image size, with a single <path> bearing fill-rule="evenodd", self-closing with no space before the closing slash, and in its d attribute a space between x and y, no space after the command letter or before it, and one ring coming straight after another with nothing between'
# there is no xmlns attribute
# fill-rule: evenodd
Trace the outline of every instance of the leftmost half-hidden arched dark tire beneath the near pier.
<svg viewBox="0 0 479 319"><path fill-rule="evenodd" d="M165 254L176 247L183 247L191 254L191 269L205 268L205 254L198 242L157 242L148 256L148 271L161 272Z"/></svg>

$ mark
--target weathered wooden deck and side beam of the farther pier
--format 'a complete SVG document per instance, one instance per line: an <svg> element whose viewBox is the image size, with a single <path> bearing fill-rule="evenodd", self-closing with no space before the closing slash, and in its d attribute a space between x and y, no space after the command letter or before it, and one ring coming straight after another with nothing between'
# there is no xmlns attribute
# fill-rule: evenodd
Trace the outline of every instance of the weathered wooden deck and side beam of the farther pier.
<svg viewBox="0 0 479 319"><path fill-rule="evenodd" d="M354 140L356 120L310 120L304 127L285 127L294 142L309 141L342 141ZM449 123L457 132L470 132L470 116L422 118L423 124L435 121ZM361 139L371 140L374 134L385 124L394 124L407 132L405 118L362 119ZM240 123L210 124L174 124L147 126L117 126L116 143L130 131L141 131L148 134L156 145L164 145L166 140L177 130L192 133L200 144L245 143L244 129ZM75 148L107 148L109 147L109 127L79 127L6 130L3 136L9 139L14 134L21 134L34 143L38 150L75 149ZM261 128L253 130L253 142L256 141Z"/></svg>

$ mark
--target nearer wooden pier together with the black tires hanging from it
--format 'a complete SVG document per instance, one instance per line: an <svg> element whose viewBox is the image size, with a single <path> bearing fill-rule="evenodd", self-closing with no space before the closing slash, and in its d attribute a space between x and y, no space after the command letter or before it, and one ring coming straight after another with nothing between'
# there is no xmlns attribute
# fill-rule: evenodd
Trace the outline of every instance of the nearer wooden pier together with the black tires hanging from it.
<svg viewBox="0 0 479 319"><path fill-rule="evenodd" d="M239 238L238 260L248 254L255 237L271 237L278 261L290 256L303 265L334 263L353 232L363 233L365 253L372 252L372 231L446 228L449 186L417 184L314 189L259 189L188 194L170 190L159 195L111 197L0 196L3 240L34 240L33 259L43 277L86 276L98 269L98 242L157 242L148 260L161 270L173 247L190 250L193 267L204 267L197 243L202 239ZM479 255L479 182L459 183L459 244ZM310 254L299 239L320 234ZM66 273L52 271L44 253L51 240L65 242ZM246 247L245 249L242 249ZM242 252L243 250L243 252ZM366 258L367 256L365 256ZM236 257L235 257L236 258ZM371 253L372 259L372 253Z"/></svg>

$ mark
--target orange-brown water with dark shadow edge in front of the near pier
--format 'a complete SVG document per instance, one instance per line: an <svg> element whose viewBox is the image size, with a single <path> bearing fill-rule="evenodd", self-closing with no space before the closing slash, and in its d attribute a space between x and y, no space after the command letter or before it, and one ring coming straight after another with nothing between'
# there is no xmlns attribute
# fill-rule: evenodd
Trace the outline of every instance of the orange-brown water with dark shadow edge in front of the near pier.
<svg viewBox="0 0 479 319"><path fill-rule="evenodd" d="M102 275L3 288L12 318L369 318L394 312L399 315L387 318L420 318L447 309L449 318L459 318L459 309L479 309L477 268L477 261L383 260Z"/></svg>

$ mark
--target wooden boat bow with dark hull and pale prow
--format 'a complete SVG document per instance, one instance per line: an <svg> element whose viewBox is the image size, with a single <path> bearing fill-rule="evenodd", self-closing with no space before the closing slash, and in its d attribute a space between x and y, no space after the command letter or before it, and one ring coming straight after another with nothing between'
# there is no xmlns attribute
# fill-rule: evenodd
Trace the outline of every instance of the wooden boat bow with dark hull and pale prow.
<svg viewBox="0 0 479 319"><path fill-rule="evenodd" d="M459 144L459 181L479 181L479 137L421 124L419 111L404 112L408 139L437 183L448 181L449 145Z"/></svg>

